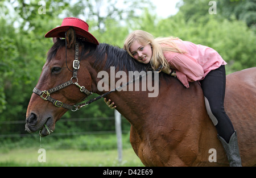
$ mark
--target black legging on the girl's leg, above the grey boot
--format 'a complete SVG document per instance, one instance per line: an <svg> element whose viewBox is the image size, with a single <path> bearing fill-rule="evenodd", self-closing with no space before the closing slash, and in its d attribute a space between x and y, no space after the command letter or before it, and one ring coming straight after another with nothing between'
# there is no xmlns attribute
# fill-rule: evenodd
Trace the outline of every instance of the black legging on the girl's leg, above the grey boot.
<svg viewBox="0 0 256 178"><path fill-rule="evenodd" d="M226 88L225 65L210 71L200 83L209 117L212 119L214 126L216 126L218 135L228 143L230 136L234 133L234 127L224 110Z"/></svg>

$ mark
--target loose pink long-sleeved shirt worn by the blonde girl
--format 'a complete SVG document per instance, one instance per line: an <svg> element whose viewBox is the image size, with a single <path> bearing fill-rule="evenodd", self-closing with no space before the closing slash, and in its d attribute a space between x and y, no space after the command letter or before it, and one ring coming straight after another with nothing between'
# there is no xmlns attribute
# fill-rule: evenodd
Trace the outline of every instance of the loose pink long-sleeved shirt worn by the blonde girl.
<svg viewBox="0 0 256 178"><path fill-rule="evenodd" d="M210 71L226 64L218 52L210 47L182 40L173 42L185 53L164 52L164 57L170 67L176 70L177 78L187 88L188 82L203 80Z"/></svg>

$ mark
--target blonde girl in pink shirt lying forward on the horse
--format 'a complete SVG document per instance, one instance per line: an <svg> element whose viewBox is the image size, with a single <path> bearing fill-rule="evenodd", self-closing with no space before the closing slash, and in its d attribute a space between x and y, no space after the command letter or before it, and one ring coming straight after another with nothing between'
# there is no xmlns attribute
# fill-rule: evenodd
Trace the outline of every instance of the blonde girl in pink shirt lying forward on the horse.
<svg viewBox="0 0 256 178"><path fill-rule="evenodd" d="M216 126L230 166L241 166L236 131L224 110L226 62L212 48L185 42L179 38L156 38L146 31L129 34L123 48L135 60L151 64L153 69L163 65L162 72L177 77L189 88L189 82L199 81L205 97L207 112ZM172 72L171 72L171 69ZM115 108L114 103L105 102Z"/></svg>

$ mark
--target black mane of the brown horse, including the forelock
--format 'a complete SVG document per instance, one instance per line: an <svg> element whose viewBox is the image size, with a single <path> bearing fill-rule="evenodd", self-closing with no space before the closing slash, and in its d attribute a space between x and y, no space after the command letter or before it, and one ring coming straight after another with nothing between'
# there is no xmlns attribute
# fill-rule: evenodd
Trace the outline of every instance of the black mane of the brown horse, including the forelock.
<svg viewBox="0 0 256 178"><path fill-rule="evenodd" d="M110 67L115 67L119 71L147 71L148 65L139 63L137 60L133 59L124 49L119 47L114 47L112 45L101 43L99 45L86 43L77 39L79 45L82 44L82 59L86 59L89 56L96 57L94 61L94 67L100 67L103 70L108 70ZM57 50L61 47L65 47L65 40L58 40L52 45L47 53L47 60L51 60L55 57ZM108 56L104 62L105 56ZM79 57L80 59L80 57Z"/></svg>

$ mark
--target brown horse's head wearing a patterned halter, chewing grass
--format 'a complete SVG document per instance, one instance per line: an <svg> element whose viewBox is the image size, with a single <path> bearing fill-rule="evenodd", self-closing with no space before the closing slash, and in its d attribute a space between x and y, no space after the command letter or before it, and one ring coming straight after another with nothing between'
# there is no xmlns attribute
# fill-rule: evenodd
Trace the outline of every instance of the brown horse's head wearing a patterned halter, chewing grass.
<svg viewBox="0 0 256 178"><path fill-rule="evenodd" d="M66 40L67 43L53 38L54 44L49 49L46 64L28 104L25 127L29 133L41 130L42 136L49 135L60 117L68 109L76 110L74 105L88 96L88 90L92 89L92 77L86 68L88 61L80 61L79 54L74 62L75 46L81 51L82 45L76 45L73 28L68 30Z"/></svg>

